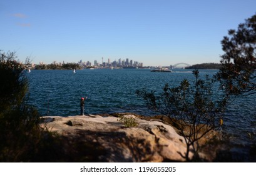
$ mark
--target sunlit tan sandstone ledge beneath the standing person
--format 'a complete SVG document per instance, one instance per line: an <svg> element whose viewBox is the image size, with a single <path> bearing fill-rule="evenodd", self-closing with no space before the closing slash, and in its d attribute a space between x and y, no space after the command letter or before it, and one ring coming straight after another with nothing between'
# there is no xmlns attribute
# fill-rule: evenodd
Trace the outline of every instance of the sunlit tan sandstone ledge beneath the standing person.
<svg viewBox="0 0 256 175"><path fill-rule="evenodd" d="M99 148L101 153L91 153L98 156L96 161L185 161L180 155L186 152L185 141L170 124L160 119L141 119L133 114L123 117L135 119L138 126L127 128L111 115L44 117L41 126L70 139L69 143L79 139L79 143Z"/></svg>

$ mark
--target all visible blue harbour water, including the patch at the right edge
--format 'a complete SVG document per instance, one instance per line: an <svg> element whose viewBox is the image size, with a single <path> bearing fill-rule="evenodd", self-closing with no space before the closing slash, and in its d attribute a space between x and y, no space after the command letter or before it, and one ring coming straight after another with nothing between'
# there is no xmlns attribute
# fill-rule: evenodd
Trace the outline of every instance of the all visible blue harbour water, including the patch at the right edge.
<svg viewBox="0 0 256 175"><path fill-rule="evenodd" d="M212 76L217 70L202 70L200 76ZM130 112L151 116L136 89L160 92L165 83L178 86L180 81L193 81L192 70L177 69L173 73L151 73L149 69L84 69L33 70L28 73L29 103L38 108L42 116L75 116L79 114L79 101L87 96L86 114ZM239 141L255 132L250 121L255 117L255 95L236 99L225 114L225 128Z"/></svg>

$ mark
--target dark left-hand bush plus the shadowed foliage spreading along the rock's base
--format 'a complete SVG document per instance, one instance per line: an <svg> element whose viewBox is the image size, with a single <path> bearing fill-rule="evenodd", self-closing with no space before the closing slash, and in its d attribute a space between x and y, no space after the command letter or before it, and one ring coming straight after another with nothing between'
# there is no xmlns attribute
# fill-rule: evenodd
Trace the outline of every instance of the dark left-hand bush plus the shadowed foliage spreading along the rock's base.
<svg viewBox="0 0 256 175"><path fill-rule="evenodd" d="M15 53L0 53L0 162L96 162L105 154L96 143L45 131L26 103L26 66Z"/></svg>

